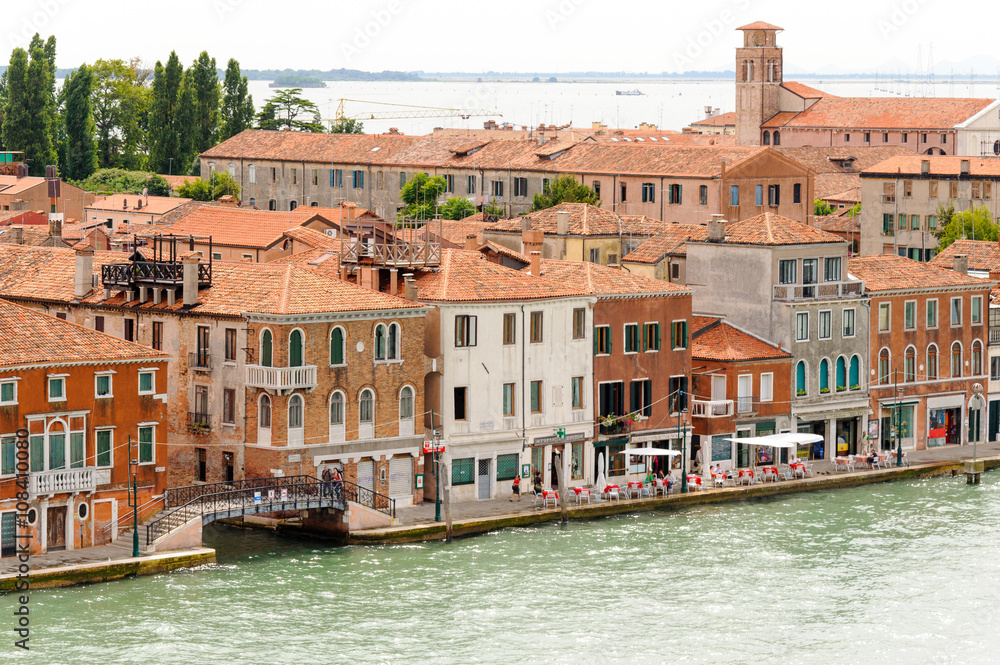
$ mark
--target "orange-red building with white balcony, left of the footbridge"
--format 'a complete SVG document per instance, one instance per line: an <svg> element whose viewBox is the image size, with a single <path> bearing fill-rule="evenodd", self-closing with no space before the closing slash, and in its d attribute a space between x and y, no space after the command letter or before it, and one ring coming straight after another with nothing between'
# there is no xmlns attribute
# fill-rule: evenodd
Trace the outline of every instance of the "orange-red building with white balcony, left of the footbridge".
<svg viewBox="0 0 1000 665"><path fill-rule="evenodd" d="M165 353L0 301L0 556L14 555L16 433L28 433L30 551L104 545L166 487ZM25 533L24 530L21 533ZM23 542L23 541L22 541Z"/></svg>

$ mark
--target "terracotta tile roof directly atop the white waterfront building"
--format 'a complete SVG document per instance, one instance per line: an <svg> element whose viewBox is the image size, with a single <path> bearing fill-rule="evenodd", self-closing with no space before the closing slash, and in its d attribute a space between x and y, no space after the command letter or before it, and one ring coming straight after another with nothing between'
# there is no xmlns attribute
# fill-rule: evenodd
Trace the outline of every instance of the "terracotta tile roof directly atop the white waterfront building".
<svg viewBox="0 0 1000 665"><path fill-rule="evenodd" d="M442 250L441 266L417 275L418 299L428 302L505 302L583 296L584 292L545 276L512 270L477 251Z"/></svg>

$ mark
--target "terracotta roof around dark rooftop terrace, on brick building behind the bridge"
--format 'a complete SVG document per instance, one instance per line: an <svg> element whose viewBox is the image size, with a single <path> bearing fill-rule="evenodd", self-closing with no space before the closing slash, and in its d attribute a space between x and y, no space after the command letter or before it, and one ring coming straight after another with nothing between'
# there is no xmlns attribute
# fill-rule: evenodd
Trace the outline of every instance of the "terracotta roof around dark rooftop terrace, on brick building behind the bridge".
<svg viewBox="0 0 1000 665"><path fill-rule="evenodd" d="M94 252L94 274L101 265L123 263L121 252ZM69 302L73 300L76 253L69 249L6 247L0 245L0 297ZM137 310L180 311L166 301L138 303L121 292L104 300L98 290L83 299L86 304L131 306ZM198 306L192 311L221 316L243 312L264 314L311 314L403 309L420 305L403 298L325 277L301 265L273 263L212 264L212 286L198 292Z"/></svg>

